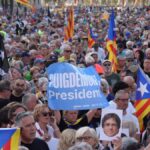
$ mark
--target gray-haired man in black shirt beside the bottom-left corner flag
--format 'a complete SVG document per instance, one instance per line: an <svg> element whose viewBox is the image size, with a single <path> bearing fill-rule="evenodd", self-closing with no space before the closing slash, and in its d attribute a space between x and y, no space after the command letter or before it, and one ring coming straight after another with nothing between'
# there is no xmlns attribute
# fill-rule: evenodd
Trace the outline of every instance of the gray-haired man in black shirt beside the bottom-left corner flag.
<svg viewBox="0 0 150 150"><path fill-rule="evenodd" d="M30 112L22 112L17 115L15 125L21 129L21 145L29 150L49 150L48 145L35 137L36 127L33 115Z"/></svg>

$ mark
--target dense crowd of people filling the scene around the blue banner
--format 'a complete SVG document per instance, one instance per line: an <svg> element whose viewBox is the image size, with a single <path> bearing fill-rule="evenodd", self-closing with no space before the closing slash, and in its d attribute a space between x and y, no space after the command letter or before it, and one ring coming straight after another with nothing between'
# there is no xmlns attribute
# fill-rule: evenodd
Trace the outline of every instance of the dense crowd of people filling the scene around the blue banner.
<svg viewBox="0 0 150 150"><path fill-rule="evenodd" d="M112 71L106 49L106 14L111 9L75 7L71 41L64 41L67 8L29 10L11 17L1 13L0 128L21 129L20 150L150 150L150 111L141 131L134 107L138 67L150 78L150 7L114 8L117 72ZM88 47L89 26L96 37L92 48ZM4 65L6 55L9 68ZM122 127L129 130L128 136L121 134L112 141L99 138L101 108L63 111L48 107L46 68L56 62L95 67L108 108L123 111ZM113 129L109 132L113 134Z"/></svg>

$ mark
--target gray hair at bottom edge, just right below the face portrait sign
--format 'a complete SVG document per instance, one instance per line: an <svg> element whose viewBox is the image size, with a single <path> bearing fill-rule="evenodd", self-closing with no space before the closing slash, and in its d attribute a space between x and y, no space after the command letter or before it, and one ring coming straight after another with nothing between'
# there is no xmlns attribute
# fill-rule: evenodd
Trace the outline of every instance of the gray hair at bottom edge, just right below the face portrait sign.
<svg viewBox="0 0 150 150"><path fill-rule="evenodd" d="M138 141L135 138L124 137L122 138L122 148L121 150L127 150L127 147L132 144L137 144Z"/></svg>

